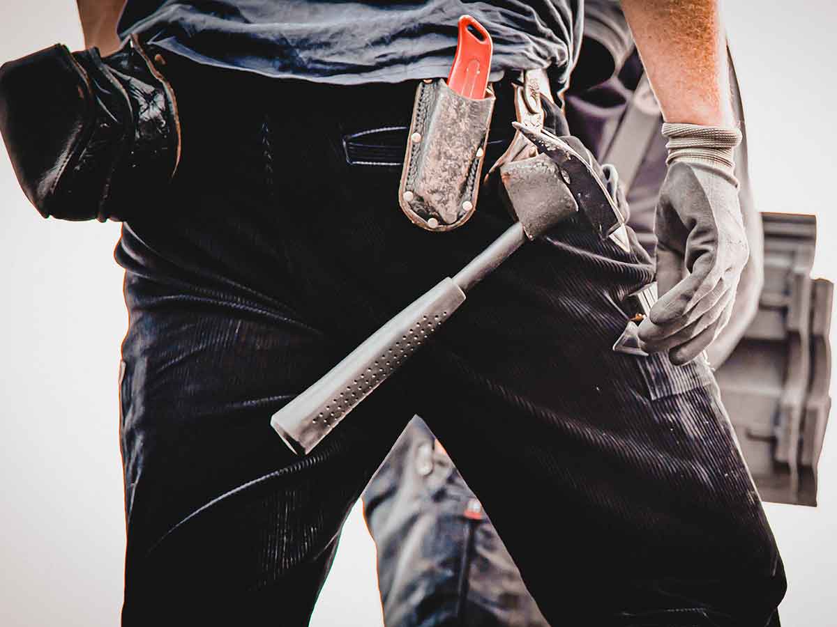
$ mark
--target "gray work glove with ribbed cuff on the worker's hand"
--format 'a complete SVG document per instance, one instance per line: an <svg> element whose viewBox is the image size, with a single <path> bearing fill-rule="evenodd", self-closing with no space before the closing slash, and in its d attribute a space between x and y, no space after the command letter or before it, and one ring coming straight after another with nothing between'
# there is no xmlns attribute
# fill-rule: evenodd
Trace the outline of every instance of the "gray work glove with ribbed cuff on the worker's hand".
<svg viewBox="0 0 837 627"><path fill-rule="evenodd" d="M737 129L664 124L669 170L655 232L660 299L639 324L643 349L681 365L701 354L732 314L747 263L732 150Z"/></svg>

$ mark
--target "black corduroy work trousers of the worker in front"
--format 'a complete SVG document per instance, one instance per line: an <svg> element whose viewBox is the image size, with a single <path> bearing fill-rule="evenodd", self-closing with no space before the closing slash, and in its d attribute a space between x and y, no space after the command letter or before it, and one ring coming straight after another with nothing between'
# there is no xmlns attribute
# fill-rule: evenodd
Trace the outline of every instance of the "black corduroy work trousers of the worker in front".
<svg viewBox="0 0 837 627"><path fill-rule="evenodd" d="M768 623L782 563L711 370L611 350L653 264L580 218L522 247L294 456L272 413L511 218L489 189L454 232L403 216L392 160L415 84L276 82L182 59L167 72L182 162L116 248L124 624L306 624L341 524L414 413L552 624ZM511 135L498 91L486 162Z"/></svg>

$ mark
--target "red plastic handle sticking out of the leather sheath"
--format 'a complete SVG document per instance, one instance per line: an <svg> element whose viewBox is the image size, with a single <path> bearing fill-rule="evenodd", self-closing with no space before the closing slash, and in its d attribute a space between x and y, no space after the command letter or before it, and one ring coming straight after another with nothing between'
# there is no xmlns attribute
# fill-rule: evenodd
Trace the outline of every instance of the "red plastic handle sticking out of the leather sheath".
<svg viewBox="0 0 837 627"><path fill-rule="evenodd" d="M448 86L465 98L485 98L488 74L491 71L491 53L494 49L491 36L483 25L470 15L460 18L459 30L459 42L456 44L454 64L448 75Z"/></svg>

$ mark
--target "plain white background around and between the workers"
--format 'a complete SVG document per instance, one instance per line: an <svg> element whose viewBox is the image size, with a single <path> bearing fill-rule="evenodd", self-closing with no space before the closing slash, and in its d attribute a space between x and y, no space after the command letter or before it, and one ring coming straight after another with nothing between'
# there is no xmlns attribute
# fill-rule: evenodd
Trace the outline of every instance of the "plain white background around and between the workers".
<svg viewBox="0 0 837 627"><path fill-rule="evenodd" d="M819 217L814 273L837 278L834 25L827 0L728 2L763 211ZM71 0L0 1L0 62L81 48ZM125 531L116 369L126 330L116 224L44 221L0 150L0 624L118 623ZM832 338L834 343L834 338ZM790 588L783 624L837 624L837 450L818 508L768 505ZM381 624L374 548L352 512L312 624ZM556 565L560 568L560 564Z"/></svg>

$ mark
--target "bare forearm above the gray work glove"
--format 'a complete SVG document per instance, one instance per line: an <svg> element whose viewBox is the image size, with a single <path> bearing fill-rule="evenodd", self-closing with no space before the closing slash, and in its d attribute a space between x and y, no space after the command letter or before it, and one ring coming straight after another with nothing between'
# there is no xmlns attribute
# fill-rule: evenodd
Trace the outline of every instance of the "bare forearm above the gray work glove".
<svg viewBox="0 0 837 627"><path fill-rule="evenodd" d="M622 0L667 122L733 126L720 0Z"/></svg>

